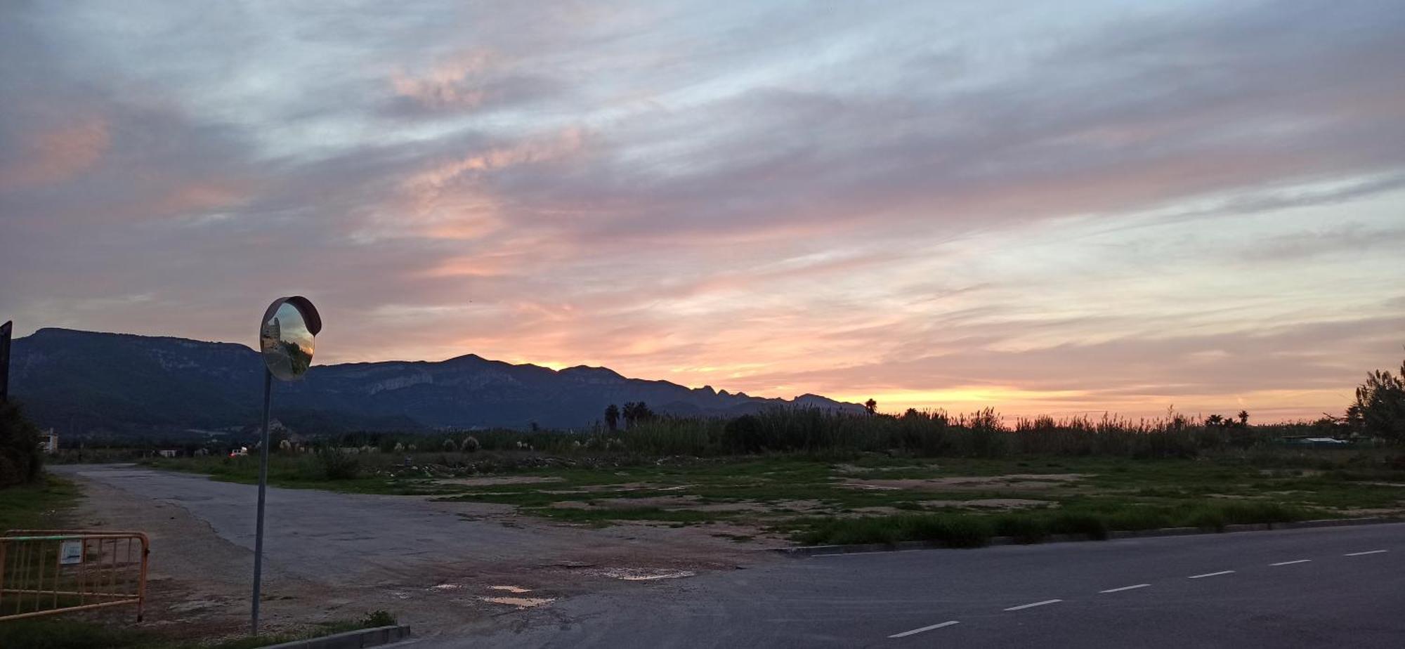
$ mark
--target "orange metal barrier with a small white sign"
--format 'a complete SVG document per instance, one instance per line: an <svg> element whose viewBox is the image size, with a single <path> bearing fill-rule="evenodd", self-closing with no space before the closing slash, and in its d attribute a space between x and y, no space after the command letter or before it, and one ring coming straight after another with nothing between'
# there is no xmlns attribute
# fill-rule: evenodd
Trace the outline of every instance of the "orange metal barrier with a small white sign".
<svg viewBox="0 0 1405 649"><path fill-rule="evenodd" d="M135 605L140 622L149 555L142 532L11 530L0 537L0 621Z"/></svg>

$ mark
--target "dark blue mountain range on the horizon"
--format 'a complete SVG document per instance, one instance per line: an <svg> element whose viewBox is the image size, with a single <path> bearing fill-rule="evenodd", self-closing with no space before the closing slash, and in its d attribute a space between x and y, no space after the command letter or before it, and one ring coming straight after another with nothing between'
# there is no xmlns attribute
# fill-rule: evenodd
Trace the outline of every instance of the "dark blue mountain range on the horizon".
<svg viewBox="0 0 1405 649"><path fill-rule="evenodd" d="M263 360L242 344L41 329L17 339L10 385L42 426L81 433L243 427L259 420ZM823 396L794 400L690 389L613 369L561 371L478 355L440 362L315 365L280 383L275 416L306 433L433 427L584 427L606 406L646 402L673 414L731 416L778 405L863 410Z"/></svg>

